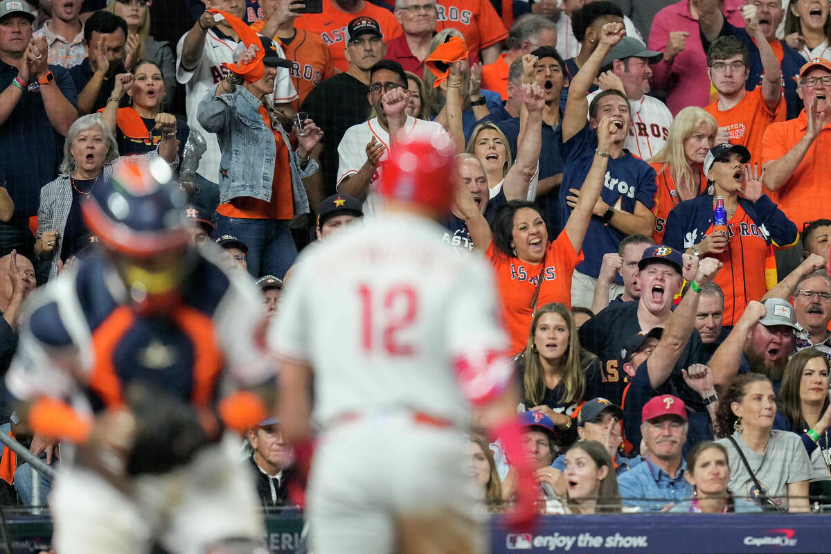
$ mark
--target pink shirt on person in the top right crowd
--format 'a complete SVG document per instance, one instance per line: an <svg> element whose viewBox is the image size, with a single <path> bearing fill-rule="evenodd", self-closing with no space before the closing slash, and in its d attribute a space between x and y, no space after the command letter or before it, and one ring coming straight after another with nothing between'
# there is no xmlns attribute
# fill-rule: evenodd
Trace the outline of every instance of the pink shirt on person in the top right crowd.
<svg viewBox="0 0 831 554"><path fill-rule="evenodd" d="M722 12L735 27L745 27L739 7L744 0L724 0ZM661 59L652 66L652 88L666 90L666 106L676 115L688 105L704 107L711 103L710 77L707 75L707 55L701 45L698 20L690 13L690 0L681 0L657 13L649 32L649 49L664 51L670 32L686 31L684 50L670 65Z"/></svg>

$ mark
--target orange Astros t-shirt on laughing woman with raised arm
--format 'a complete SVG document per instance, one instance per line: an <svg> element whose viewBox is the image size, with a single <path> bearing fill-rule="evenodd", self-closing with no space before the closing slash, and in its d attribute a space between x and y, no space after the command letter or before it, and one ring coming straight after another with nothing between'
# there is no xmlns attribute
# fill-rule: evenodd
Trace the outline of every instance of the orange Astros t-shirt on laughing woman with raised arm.
<svg viewBox="0 0 831 554"><path fill-rule="evenodd" d="M560 302L571 308L571 279L574 268L583 262L583 252L574 252L565 231L548 243L545 252L545 269L542 263L525 263L517 257L507 257L490 243L485 256L494 266L505 326L511 336L510 353L519 353L528 342L531 320L534 318L534 292L537 277L543 277L539 287L537 306L548 302Z"/></svg>

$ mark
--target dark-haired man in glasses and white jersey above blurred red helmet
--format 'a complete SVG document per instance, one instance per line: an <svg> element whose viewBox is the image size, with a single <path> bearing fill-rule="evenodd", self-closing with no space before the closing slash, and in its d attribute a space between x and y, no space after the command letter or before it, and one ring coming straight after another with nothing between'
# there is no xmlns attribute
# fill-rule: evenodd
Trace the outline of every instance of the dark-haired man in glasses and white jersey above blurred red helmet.
<svg viewBox="0 0 831 554"><path fill-rule="evenodd" d="M370 85L366 92L366 100L376 116L350 127L337 146L340 158L337 192L363 200L364 213L373 213L376 208L373 189L381 178L381 162L389 156L390 135L400 129L408 133L424 130L434 137L447 133L435 121L406 115L404 109L409 99L407 77L401 64L392 60L377 62L370 69Z"/></svg>

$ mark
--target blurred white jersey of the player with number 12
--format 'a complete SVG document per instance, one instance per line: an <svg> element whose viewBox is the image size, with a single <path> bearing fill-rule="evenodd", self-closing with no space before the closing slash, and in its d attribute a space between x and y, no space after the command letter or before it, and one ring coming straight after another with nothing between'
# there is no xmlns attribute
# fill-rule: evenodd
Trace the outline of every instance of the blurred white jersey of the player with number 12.
<svg viewBox="0 0 831 554"><path fill-rule="evenodd" d="M401 409L467 422L452 360L508 343L489 264L445 248L443 231L381 212L301 253L268 344L312 367L317 423Z"/></svg>

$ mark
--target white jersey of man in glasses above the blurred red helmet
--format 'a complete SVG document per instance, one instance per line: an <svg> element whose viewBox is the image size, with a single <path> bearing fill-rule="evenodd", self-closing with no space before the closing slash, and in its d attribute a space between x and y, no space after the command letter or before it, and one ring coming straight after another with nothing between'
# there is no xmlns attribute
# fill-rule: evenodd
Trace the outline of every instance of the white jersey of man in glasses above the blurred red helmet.
<svg viewBox="0 0 831 554"><path fill-rule="evenodd" d="M430 135L433 137L447 134L447 131L445 131L445 128L440 123L418 120L411 115L407 115L407 119L404 122L404 129L407 132L413 129L425 130L425 132L430 132ZM356 174L363 164L366 164L366 145L369 144L372 137L375 137L376 142L380 142L386 147L384 154L381 154L381 161L387 159L390 151L390 134L381 126L381 122L378 121L377 117L373 117L371 120L357 125L352 125L343 134L341 144L337 145L339 162L337 164L336 188L338 190L340 190L343 179ZM376 211L378 199L375 194L375 186L379 179L381 179L381 165L372 174L372 179L369 184L369 194L366 195L366 201L363 205L364 215L371 215Z"/></svg>

